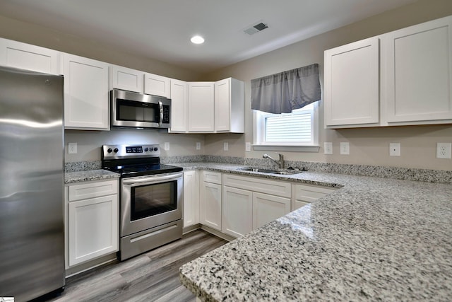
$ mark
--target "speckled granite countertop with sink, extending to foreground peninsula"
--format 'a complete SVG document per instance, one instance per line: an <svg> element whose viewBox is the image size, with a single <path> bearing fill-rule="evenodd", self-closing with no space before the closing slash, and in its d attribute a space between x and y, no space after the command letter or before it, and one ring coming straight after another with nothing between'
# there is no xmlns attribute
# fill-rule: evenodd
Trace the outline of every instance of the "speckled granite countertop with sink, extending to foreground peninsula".
<svg viewBox="0 0 452 302"><path fill-rule="evenodd" d="M182 284L202 301L450 301L451 184L309 171L259 176L340 189L183 265Z"/></svg>

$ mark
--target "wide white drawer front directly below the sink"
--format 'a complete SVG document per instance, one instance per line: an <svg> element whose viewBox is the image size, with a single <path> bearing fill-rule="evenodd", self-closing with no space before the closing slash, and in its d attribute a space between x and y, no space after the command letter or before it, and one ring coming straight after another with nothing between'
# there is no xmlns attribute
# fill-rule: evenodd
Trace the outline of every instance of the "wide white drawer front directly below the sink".
<svg viewBox="0 0 452 302"><path fill-rule="evenodd" d="M239 175L225 175L223 185L237 187L239 189L267 193L280 197L290 197L291 187L289 182L278 180L264 180L259 178L247 178Z"/></svg>

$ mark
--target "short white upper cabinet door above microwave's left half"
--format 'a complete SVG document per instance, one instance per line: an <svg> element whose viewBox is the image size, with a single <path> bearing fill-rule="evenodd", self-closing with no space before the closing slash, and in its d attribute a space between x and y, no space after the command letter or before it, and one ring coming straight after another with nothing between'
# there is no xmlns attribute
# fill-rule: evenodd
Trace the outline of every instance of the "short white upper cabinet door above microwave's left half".
<svg viewBox="0 0 452 302"><path fill-rule="evenodd" d="M112 65L110 71L110 86L113 88L143 93L144 88L144 72L130 69L122 66Z"/></svg>

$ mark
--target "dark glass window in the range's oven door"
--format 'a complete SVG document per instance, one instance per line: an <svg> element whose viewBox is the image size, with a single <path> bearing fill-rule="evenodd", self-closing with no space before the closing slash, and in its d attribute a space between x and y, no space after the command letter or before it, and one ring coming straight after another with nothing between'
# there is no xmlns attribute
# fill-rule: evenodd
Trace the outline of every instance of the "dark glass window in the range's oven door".
<svg viewBox="0 0 452 302"><path fill-rule="evenodd" d="M177 181L131 187L131 221L177 209Z"/></svg>

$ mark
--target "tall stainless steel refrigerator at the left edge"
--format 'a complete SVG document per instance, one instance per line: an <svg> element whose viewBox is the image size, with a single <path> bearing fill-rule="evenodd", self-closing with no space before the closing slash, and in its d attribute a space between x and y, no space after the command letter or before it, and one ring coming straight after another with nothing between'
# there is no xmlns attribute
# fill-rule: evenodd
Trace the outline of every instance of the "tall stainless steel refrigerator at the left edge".
<svg viewBox="0 0 452 302"><path fill-rule="evenodd" d="M63 77L0 66L0 297L64 289Z"/></svg>

